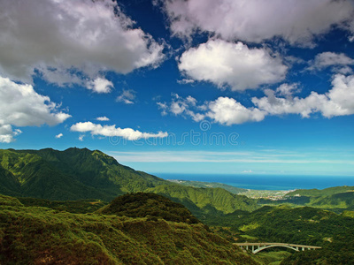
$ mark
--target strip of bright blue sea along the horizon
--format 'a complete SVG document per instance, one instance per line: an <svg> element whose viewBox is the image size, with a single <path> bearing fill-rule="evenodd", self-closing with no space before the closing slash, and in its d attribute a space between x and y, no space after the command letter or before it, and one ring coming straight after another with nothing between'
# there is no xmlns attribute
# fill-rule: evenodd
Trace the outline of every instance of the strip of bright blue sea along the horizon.
<svg viewBox="0 0 354 265"><path fill-rule="evenodd" d="M219 182L230 186L254 190L324 189L331 186L354 186L354 177L349 176L289 176L256 174L173 174L155 173L164 179Z"/></svg>

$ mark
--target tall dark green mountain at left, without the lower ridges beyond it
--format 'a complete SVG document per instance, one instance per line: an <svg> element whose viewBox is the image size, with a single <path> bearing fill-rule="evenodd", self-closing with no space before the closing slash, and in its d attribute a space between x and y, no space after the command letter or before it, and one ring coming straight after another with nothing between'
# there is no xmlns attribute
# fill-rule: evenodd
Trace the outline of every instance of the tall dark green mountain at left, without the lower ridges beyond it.
<svg viewBox="0 0 354 265"><path fill-rule="evenodd" d="M100 151L0 150L0 190L50 200L102 199L143 191L165 180L120 165Z"/></svg>

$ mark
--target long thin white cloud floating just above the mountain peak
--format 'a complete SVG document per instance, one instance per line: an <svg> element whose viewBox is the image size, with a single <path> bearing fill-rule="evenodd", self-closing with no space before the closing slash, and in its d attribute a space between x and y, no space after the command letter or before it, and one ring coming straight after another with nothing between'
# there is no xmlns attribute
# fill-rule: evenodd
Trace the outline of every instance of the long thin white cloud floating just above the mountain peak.
<svg viewBox="0 0 354 265"><path fill-rule="evenodd" d="M77 123L70 128L73 132L91 133L92 135L102 135L106 137L122 137L127 140L139 140L149 138L165 138L168 133L142 133L131 128L116 128L116 125L97 125L91 122Z"/></svg>

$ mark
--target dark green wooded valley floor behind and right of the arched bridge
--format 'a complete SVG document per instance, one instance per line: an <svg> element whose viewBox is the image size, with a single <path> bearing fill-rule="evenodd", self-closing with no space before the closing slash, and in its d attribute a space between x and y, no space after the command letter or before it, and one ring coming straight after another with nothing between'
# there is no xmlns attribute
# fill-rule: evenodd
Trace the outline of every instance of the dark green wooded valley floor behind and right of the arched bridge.
<svg viewBox="0 0 354 265"><path fill-rule="evenodd" d="M209 225L237 242L281 242L322 246L291 254L281 264L354 264L354 212L337 215L319 208L286 206L259 208L251 213L235 211L208 216Z"/></svg>

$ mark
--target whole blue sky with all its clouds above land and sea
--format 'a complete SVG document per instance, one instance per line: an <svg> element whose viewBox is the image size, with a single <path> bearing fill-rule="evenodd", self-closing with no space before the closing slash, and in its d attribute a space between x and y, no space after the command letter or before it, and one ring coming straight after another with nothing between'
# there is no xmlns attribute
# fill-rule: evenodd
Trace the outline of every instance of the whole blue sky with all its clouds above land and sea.
<svg viewBox="0 0 354 265"><path fill-rule="evenodd" d="M354 175L354 4L2 1L0 148Z"/></svg>

